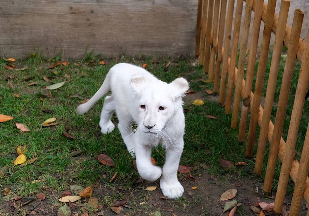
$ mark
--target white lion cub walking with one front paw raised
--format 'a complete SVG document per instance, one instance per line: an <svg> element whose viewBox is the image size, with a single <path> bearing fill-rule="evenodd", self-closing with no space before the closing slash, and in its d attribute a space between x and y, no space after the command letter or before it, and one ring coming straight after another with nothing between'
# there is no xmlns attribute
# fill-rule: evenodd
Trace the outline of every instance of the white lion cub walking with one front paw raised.
<svg viewBox="0 0 309 216"><path fill-rule="evenodd" d="M160 187L168 198L181 197L184 188L177 179L177 169L184 146L184 93L189 84L177 78L167 84L141 67L127 63L113 66L99 90L91 99L77 107L77 113L87 112L108 90L100 118L102 133L114 129L111 121L116 111L118 128L128 151L136 156L138 173L143 179L155 181L160 176ZM132 123L138 127L132 131ZM153 146L166 149L163 169L151 164Z"/></svg>

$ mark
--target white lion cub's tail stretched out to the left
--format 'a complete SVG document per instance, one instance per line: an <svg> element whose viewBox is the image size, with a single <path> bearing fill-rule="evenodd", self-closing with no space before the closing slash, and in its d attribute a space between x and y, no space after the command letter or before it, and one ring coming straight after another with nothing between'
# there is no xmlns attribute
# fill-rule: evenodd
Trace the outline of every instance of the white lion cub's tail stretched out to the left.
<svg viewBox="0 0 309 216"><path fill-rule="evenodd" d="M84 114L87 112L91 106L93 106L99 99L101 99L110 89L110 73L105 77L105 80L99 90L90 98L90 100L84 104L79 105L76 108L78 114Z"/></svg>

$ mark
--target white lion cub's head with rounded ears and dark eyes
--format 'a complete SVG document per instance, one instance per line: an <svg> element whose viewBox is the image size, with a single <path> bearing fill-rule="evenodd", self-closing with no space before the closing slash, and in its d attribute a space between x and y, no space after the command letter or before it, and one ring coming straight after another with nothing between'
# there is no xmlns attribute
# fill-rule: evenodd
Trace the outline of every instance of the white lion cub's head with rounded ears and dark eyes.
<svg viewBox="0 0 309 216"><path fill-rule="evenodd" d="M167 84L161 80L147 81L142 76L131 79L137 93L139 130L151 135L159 134L177 111L182 111L182 97L188 90L188 81L177 78Z"/></svg>

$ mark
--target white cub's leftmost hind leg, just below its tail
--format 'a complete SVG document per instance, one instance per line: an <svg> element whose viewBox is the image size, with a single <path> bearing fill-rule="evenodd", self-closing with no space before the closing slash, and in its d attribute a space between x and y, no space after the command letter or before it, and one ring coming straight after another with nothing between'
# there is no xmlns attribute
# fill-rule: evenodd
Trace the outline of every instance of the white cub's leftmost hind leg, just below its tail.
<svg viewBox="0 0 309 216"><path fill-rule="evenodd" d="M112 114L116 111L113 96L106 96L103 103L103 108L100 117L101 132L106 134L114 130L115 125L112 123Z"/></svg>

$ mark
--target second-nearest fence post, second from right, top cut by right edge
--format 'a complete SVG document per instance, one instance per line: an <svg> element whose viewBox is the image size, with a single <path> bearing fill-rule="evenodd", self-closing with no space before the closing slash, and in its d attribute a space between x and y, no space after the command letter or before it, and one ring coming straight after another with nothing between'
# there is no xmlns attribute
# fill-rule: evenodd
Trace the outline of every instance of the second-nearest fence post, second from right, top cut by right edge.
<svg viewBox="0 0 309 216"><path fill-rule="evenodd" d="M299 14L303 18L304 13L296 9L295 14ZM301 19L302 21L302 19ZM302 23L302 22L300 22ZM307 37L307 39L309 39ZM295 43L295 41L294 41ZM302 66L300 67L300 73L298 78L297 89L295 93L294 105L291 115L291 121L289 126L288 137L286 139L286 150L284 152L281 172L279 177L278 189L275 199L274 210L277 213L281 213L284 198L286 196L286 186L290 177L291 163L293 160L293 153L295 149L299 123L302 117L303 106L305 102L305 96L307 92L308 80L309 80L309 41L306 43L305 54L303 56Z"/></svg>

